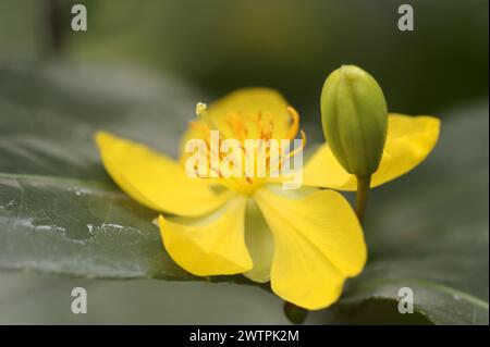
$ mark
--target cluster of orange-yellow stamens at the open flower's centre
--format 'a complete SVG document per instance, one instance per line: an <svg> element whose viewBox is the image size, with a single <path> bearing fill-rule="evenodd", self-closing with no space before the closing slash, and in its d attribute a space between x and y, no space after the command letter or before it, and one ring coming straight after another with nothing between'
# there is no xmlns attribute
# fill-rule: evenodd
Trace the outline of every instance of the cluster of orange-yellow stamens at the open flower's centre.
<svg viewBox="0 0 490 347"><path fill-rule="evenodd" d="M295 139L299 128L299 115L287 107L289 127L274 135L274 119L268 112L244 114L231 111L221 119L211 119L206 106L198 103L199 121L191 122L196 137L204 140L205 150L184 153L183 159L197 159L193 172L200 178L215 178L218 184L243 194L252 195L266 183L280 183L285 173L292 174L291 159L303 152L306 135ZM197 158L196 158L197 157ZM302 161L303 163L303 161ZM296 160L294 161L296 166ZM298 168L293 168L298 169Z"/></svg>

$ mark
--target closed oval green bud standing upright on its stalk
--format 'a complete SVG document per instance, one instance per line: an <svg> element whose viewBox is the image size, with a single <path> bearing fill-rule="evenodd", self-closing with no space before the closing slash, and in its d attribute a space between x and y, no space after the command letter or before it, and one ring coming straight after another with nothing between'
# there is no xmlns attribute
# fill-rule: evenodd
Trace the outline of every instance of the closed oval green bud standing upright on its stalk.
<svg viewBox="0 0 490 347"><path fill-rule="evenodd" d="M333 154L348 173L369 176L378 169L388 108L371 75L354 65L332 72L321 91L321 122Z"/></svg>

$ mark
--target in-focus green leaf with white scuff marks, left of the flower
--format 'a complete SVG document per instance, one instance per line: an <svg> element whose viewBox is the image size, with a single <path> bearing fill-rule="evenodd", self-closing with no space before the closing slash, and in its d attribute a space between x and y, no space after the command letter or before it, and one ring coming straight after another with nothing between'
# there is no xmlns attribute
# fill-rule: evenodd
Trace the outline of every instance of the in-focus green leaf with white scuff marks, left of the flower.
<svg viewBox="0 0 490 347"><path fill-rule="evenodd" d="M0 176L0 265L87 277L189 280L163 251L155 212L103 184Z"/></svg>

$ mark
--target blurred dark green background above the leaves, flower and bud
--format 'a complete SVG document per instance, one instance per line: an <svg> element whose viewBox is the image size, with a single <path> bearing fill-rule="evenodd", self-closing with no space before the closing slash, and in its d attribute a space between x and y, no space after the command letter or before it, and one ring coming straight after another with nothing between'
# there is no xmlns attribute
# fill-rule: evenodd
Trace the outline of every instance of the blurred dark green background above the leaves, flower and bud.
<svg viewBox="0 0 490 347"><path fill-rule="evenodd" d="M418 0L415 30L396 27L402 1L2 0L0 59L127 63L174 75L210 96L243 86L281 90L318 116L326 76L369 71L390 110L440 113L488 94L488 1ZM70 29L73 3L88 30Z"/></svg>

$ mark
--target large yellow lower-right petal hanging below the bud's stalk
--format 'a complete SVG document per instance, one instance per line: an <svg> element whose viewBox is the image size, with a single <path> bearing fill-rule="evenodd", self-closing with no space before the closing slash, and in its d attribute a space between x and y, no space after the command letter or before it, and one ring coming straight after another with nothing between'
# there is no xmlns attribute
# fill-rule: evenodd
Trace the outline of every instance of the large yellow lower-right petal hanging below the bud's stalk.
<svg viewBox="0 0 490 347"><path fill-rule="evenodd" d="M332 190L290 199L259 189L254 197L274 237L272 290L309 310L335 302L345 278L357 275L367 257L348 202Z"/></svg>

